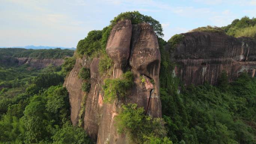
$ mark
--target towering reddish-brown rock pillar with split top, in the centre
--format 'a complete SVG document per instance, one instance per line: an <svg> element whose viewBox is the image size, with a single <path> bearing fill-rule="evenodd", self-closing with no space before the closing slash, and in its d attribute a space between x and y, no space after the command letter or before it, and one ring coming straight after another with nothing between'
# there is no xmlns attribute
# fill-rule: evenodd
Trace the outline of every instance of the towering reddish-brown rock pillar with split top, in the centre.
<svg viewBox="0 0 256 144"><path fill-rule="evenodd" d="M129 20L119 21L110 33L106 52L115 63L115 66L110 69L112 74L100 76L99 58L89 62L91 89L86 99L84 129L91 138L97 140L97 144L126 144L128 137L125 134L119 135L114 125L114 117L119 113L122 103L137 103L138 107L144 107L146 114L161 117L158 41L149 24L132 25ZM81 68L78 64L80 61L77 59L75 67L64 83L70 94L73 125L77 124L80 102L84 95L80 90L82 81L77 78ZM88 62L82 61L81 65L85 65L84 63ZM113 104L103 103L103 80L121 78L122 73L127 70L131 70L134 74L131 94L125 99L116 99ZM141 82L141 77L144 82Z"/></svg>

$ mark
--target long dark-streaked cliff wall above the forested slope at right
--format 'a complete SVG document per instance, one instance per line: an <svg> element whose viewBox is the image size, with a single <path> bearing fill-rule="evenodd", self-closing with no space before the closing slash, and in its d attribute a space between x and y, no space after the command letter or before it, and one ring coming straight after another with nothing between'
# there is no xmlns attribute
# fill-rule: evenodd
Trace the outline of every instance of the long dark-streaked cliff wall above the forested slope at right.
<svg viewBox="0 0 256 144"><path fill-rule="evenodd" d="M222 71L226 71L229 81L242 72L255 76L256 43L252 39L204 32L183 35L172 58L177 63L175 73L184 85L205 81L216 84Z"/></svg>

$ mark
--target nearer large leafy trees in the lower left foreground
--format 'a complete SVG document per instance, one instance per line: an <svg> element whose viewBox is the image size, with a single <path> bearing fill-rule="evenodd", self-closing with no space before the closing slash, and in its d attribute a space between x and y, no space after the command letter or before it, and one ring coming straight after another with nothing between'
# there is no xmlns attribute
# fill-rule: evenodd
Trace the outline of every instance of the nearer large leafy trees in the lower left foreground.
<svg viewBox="0 0 256 144"><path fill-rule="evenodd" d="M0 101L0 143L91 144L82 128L70 124L67 90L62 85L39 86Z"/></svg>

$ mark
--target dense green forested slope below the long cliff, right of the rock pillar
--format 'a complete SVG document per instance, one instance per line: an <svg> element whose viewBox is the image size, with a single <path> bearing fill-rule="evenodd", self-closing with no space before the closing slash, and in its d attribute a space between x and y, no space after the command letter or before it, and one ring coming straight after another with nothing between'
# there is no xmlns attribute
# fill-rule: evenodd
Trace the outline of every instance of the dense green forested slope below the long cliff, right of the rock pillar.
<svg viewBox="0 0 256 144"><path fill-rule="evenodd" d="M176 64L170 60L171 52L163 47L166 42L158 39L158 43L167 137L174 144L255 144L256 79L242 74L229 84L223 72L217 86L205 83L185 89L172 73Z"/></svg>

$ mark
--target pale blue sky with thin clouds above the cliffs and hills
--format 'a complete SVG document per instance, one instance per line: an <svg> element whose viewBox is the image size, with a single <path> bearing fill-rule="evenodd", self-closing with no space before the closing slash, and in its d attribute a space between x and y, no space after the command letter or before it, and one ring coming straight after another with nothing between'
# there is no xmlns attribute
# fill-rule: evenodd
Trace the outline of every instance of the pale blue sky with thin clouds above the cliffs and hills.
<svg viewBox="0 0 256 144"><path fill-rule="evenodd" d="M134 10L158 20L168 40L194 28L256 17L256 0L0 0L0 46L76 48L89 31Z"/></svg>

